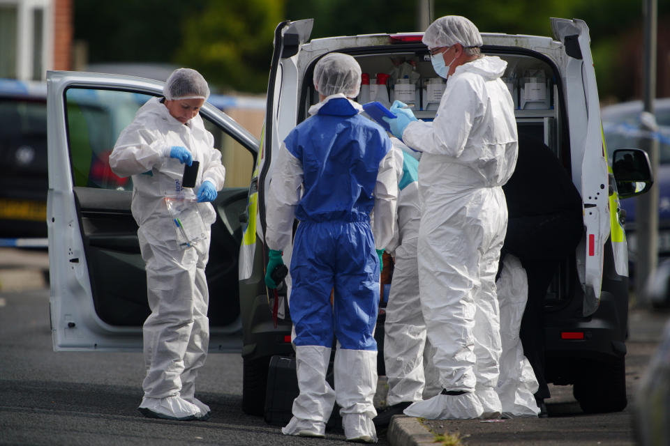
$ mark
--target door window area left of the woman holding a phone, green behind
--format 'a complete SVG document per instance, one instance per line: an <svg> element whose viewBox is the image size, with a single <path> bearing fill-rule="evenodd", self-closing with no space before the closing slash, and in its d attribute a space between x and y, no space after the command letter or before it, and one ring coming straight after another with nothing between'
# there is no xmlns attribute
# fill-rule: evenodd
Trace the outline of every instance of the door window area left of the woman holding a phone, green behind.
<svg viewBox="0 0 670 446"><path fill-rule="evenodd" d="M65 95L75 186L132 190L133 180L114 174L109 157L121 130L151 95L77 88L68 89Z"/></svg>

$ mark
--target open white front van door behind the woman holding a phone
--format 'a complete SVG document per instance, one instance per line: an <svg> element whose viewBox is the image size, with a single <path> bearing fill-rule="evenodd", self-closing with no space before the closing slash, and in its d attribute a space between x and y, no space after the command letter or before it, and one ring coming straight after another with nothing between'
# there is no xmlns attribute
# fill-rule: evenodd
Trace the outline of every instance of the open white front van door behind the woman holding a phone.
<svg viewBox="0 0 670 446"><path fill-rule="evenodd" d="M131 215L132 179L108 157L137 109L163 83L82 72L47 73L47 228L54 350L142 350L147 280ZM210 351L239 351L237 267L258 140L206 103L200 111L226 168L213 203L207 265Z"/></svg>

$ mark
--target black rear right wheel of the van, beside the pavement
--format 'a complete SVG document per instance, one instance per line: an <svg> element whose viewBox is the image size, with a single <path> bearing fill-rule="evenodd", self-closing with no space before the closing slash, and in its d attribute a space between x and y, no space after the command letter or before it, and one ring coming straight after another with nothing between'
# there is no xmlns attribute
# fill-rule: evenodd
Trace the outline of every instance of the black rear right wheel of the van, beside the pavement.
<svg viewBox="0 0 670 446"><path fill-rule="evenodd" d="M574 383L572 394L584 413L619 412L625 409L626 365L622 357L616 362L587 361L581 367L583 376Z"/></svg>

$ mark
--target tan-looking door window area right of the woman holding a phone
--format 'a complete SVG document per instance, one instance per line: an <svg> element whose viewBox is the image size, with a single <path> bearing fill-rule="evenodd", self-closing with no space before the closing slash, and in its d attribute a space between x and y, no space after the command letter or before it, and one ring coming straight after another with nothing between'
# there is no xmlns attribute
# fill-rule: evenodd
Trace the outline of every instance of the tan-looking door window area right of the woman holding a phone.
<svg viewBox="0 0 670 446"><path fill-rule="evenodd" d="M225 187L249 187L253 171L253 155L216 124L203 116L204 128L214 135L214 147L221 151L225 166Z"/></svg>

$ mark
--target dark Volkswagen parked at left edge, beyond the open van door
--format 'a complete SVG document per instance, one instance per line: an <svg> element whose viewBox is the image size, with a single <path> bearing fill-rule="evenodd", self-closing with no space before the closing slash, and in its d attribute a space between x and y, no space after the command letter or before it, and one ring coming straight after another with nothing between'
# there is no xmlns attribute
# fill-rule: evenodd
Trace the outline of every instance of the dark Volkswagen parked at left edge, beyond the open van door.
<svg viewBox="0 0 670 446"><path fill-rule="evenodd" d="M46 238L46 84L0 79L0 122L0 238Z"/></svg>

